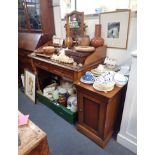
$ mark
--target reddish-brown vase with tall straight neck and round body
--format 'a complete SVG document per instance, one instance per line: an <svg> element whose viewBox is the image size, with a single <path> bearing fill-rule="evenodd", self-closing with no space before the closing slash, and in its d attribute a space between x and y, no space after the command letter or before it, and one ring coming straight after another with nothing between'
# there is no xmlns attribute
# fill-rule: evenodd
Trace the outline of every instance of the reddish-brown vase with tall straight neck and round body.
<svg viewBox="0 0 155 155"><path fill-rule="evenodd" d="M95 37L91 40L91 46L95 48L104 44L104 39L101 37L101 24L95 25Z"/></svg>

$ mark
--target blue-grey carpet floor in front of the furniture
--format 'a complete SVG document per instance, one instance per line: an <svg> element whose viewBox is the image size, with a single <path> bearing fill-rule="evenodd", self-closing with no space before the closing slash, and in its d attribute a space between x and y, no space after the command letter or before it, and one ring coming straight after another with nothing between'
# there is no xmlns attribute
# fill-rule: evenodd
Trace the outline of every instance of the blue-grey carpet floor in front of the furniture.
<svg viewBox="0 0 155 155"><path fill-rule="evenodd" d="M45 105L38 101L33 104L21 90L18 109L23 114L30 114L30 119L46 132L52 155L135 155L113 138L102 149Z"/></svg>

